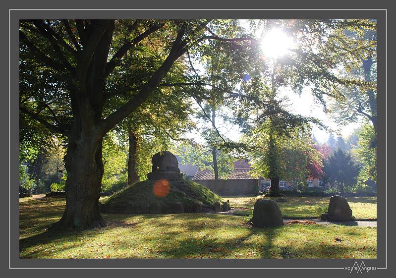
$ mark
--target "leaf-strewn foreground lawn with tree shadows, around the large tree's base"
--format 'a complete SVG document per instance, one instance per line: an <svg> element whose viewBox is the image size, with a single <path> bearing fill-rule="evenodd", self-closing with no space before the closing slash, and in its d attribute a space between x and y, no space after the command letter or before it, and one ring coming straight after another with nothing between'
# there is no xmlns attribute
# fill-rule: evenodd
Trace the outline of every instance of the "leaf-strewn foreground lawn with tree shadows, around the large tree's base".
<svg viewBox="0 0 396 278"><path fill-rule="evenodd" d="M240 208L254 204L254 197L235 199ZM254 228L244 217L218 214L109 214L105 228L46 231L61 217L64 204L64 198L20 199L21 258L377 257L376 227L293 223Z"/></svg>

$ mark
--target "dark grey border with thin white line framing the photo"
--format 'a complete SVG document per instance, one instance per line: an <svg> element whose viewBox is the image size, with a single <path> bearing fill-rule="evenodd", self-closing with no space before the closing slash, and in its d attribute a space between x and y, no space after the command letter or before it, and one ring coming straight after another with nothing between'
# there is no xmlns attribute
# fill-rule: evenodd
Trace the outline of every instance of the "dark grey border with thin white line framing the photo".
<svg viewBox="0 0 396 278"><path fill-rule="evenodd" d="M54 6L52 4L51 6ZM212 5L213 6L213 5ZM28 7L25 4L25 7ZM19 198L18 188L11 186L18 177L19 107L18 104L18 23L23 18L376 18L378 19L378 183L387 184L386 178L386 99L387 64L386 30L387 9L131 9L131 10L60 10L9 9L9 269L339 269L350 267L353 259L19 259ZM7 24L8 25L8 24ZM5 118L5 117L4 117ZM377 192L377 259L356 260L359 264L387 269L387 186ZM12 207L12 209L11 209ZM7 208L5 208L7 209ZM6 211L6 210L3 211ZM314 267L313 267L314 266ZM343 270L344 271L344 270ZM345 272L345 271L344 271ZM349 273L349 271L347 272ZM374 272L373 272L374 273Z"/></svg>

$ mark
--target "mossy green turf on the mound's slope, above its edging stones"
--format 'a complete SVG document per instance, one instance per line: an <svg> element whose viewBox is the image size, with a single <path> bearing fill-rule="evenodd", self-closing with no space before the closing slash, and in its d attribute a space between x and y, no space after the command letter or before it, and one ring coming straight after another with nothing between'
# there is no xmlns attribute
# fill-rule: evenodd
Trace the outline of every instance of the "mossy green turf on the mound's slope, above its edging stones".
<svg viewBox="0 0 396 278"><path fill-rule="evenodd" d="M170 181L170 191L165 197L154 194L154 180L146 180L132 184L114 193L101 203L101 210L106 212L144 212L150 204L157 202L164 212L170 212L175 202L183 204L185 212L192 212L195 202L202 202L203 207L212 208L222 198L208 188L186 180Z"/></svg>

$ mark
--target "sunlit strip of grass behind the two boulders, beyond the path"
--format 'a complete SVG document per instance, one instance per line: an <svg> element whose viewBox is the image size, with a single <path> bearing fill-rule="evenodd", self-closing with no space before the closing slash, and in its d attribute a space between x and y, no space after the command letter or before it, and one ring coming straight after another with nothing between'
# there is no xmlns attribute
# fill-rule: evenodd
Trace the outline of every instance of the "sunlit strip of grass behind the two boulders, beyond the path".
<svg viewBox="0 0 396 278"><path fill-rule="evenodd" d="M263 196L228 196L223 198L229 200L232 209L249 211L253 210L254 203L259 198L279 199L279 197ZM286 199L287 202L277 204L281 209L283 218L320 218L321 207L327 208L330 200L330 197L291 196L282 198ZM352 210L352 215L356 219L377 219L377 197L348 197L346 199Z"/></svg>

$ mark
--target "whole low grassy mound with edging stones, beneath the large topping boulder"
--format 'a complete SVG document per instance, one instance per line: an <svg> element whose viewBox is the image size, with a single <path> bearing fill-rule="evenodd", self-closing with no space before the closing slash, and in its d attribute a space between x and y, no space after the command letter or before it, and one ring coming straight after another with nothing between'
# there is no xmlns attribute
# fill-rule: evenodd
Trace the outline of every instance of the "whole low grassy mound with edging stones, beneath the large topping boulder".
<svg viewBox="0 0 396 278"><path fill-rule="evenodd" d="M164 184L161 181L146 180L114 193L100 204L100 210L120 214L177 213L175 210L179 211L180 205L176 203L182 204L184 213L199 213L202 210L214 210L215 203L226 202L193 181L166 181Z"/></svg>

